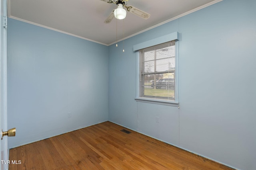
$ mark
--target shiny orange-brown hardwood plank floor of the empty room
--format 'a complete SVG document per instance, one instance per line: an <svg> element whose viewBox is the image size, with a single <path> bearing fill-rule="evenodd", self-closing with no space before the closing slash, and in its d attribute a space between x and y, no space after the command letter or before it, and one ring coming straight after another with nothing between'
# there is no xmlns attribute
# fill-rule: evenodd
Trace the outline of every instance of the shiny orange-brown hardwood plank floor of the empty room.
<svg viewBox="0 0 256 170"><path fill-rule="evenodd" d="M231 170L109 121L10 149L9 170ZM129 130L129 129L127 129ZM130 131L130 130L129 130Z"/></svg>

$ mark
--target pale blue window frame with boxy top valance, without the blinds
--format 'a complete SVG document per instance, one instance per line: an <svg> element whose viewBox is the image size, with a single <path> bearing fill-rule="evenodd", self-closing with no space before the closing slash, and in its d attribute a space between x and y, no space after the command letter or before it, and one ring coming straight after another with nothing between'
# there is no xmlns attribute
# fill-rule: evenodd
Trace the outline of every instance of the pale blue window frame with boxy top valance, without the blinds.
<svg viewBox="0 0 256 170"><path fill-rule="evenodd" d="M152 39L150 41L146 41L144 43L140 43L138 45L134 45L134 51L136 51L136 98L137 102L146 102L151 104L162 104L168 106L176 106L179 107L179 97L178 97L178 49L179 49L179 33L174 32L162 37L158 37L156 39ZM166 43L169 41L175 40L175 100L163 100L163 99L154 99L154 98L146 98L146 97L139 97L139 76L140 76L140 49L144 49L147 47L155 46L158 44Z"/></svg>

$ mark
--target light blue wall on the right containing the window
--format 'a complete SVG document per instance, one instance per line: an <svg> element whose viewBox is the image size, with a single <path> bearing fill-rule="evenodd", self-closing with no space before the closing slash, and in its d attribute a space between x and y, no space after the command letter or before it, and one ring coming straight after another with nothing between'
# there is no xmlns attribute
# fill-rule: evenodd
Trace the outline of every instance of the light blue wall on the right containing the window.
<svg viewBox="0 0 256 170"><path fill-rule="evenodd" d="M256 169L256 1L223 0L109 47L109 120L243 170ZM132 47L180 33L178 107L136 102ZM160 123L156 123L156 116Z"/></svg>

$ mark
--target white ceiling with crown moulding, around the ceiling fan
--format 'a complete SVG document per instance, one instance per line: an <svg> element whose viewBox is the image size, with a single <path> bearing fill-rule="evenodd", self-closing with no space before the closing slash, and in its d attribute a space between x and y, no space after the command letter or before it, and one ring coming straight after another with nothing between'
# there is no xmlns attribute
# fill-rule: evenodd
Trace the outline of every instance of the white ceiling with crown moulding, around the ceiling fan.
<svg viewBox="0 0 256 170"><path fill-rule="evenodd" d="M8 17L111 45L116 42L116 24L120 41L219 1L129 0L127 6L149 13L150 18L144 20L127 12L124 21L114 18L104 23L115 4L102 0L8 0Z"/></svg>

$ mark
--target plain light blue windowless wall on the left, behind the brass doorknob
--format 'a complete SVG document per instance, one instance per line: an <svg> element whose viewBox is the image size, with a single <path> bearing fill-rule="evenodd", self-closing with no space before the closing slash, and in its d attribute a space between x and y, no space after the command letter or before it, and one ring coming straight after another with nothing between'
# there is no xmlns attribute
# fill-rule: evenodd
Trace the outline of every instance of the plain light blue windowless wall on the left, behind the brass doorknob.
<svg viewBox="0 0 256 170"><path fill-rule="evenodd" d="M9 148L107 120L108 47L9 18Z"/></svg>

